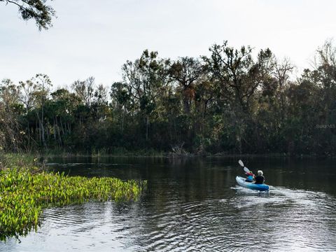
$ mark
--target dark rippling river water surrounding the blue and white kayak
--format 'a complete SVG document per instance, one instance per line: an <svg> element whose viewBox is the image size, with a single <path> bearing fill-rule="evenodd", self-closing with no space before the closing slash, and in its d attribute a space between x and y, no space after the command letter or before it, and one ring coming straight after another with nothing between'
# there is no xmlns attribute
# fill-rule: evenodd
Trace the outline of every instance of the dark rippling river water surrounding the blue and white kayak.
<svg viewBox="0 0 336 252"><path fill-rule="evenodd" d="M0 251L336 251L336 160L245 159L269 193L240 188L236 159L54 159L55 171L146 179L139 202L46 209Z"/></svg>

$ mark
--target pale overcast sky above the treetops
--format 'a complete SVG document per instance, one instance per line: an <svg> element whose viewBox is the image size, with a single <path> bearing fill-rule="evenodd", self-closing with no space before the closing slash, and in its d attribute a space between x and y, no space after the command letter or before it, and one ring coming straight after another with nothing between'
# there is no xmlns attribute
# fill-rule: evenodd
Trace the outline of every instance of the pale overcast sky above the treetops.
<svg viewBox="0 0 336 252"><path fill-rule="evenodd" d="M298 69L336 38L333 0L55 0L57 18L38 31L0 2L0 80L46 73L54 86L89 76L111 85L141 52L160 57L209 55L214 43L270 48ZM336 42L336 41L335 41ZM335 44L335 43L334 43ZM300 72L300 71L299 71Z"/></svg>

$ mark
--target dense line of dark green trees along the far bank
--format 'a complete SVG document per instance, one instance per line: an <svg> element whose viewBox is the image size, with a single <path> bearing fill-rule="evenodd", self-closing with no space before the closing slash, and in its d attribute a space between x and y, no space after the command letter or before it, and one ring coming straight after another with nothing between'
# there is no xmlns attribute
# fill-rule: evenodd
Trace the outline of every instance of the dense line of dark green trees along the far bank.
<svg viewBox="0 0 336 252"><path fill-rule="evenodd" d="M209 57L145 50L109 90L94 78L52 90L48 76L0 85L0 148L70 152L116 148L191 153L336 154L336 48L294 66L268 48L225 41Z"/></svg>

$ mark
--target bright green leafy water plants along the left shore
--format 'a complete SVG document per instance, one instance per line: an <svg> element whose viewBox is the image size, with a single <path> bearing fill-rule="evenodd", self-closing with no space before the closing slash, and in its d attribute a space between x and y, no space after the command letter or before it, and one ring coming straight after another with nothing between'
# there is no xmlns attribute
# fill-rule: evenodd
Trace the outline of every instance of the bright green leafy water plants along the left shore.
<svg viewBox="0 0 336 252"><path fill-rule="evenodd" d="M0 155L0 241L27 235L43 209L88 201L137 201L147 181L66 176L36 167L33 155Z"/></svg>

